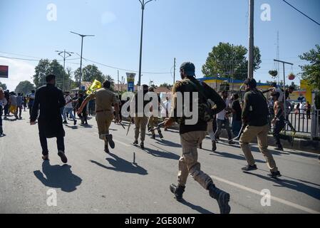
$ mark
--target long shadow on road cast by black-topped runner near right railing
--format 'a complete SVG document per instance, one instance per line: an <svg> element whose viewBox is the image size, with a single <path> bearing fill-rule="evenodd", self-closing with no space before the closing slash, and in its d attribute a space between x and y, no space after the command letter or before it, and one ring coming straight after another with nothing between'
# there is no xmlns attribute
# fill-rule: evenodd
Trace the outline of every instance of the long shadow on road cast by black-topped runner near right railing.
<svg viewBox="0 0 320 228"><path fill-rule="evenodd" d="M263 175L259 175L253 172L245 172L249 175L254 175L264 180L269 180L271 182L277 183L274 185L275 187L287 187L291 190L295 190L296 192L303 192L310 197L314 197L314 199L320 199L320 189L316 187L311 187L309 185L305 185L301 182L296 182L294 180L286 180L286 179L272 179L270 177L265 177Z"/></svg>

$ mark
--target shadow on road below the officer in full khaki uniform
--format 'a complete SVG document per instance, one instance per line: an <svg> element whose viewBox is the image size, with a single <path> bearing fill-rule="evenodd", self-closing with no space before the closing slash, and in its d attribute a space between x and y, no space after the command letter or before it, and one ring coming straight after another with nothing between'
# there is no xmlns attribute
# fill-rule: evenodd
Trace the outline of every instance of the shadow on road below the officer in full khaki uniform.
<svg viewBox="0 0 320 228"><path fill-rule="evenodd" d="M148 171L145 170L143 167L137 165L137 163L133 164L131 162L128 162L117 155L111 155L113 158L106 158L106 160L112 165L113 167L108 167L106 165L103 165L99 162L96 162L94 160L90 160L91 163L96 164L100 167L105 168L106 170L113 170L116 172L128 172L128 173L136 173L138 175L148 175Z"/></svg>

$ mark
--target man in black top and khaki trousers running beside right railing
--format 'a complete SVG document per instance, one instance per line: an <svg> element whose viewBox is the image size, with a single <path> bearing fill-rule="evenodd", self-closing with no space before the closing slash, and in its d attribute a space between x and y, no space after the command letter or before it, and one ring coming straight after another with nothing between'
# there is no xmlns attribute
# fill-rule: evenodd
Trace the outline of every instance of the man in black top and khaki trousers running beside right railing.
<svg viewBox="0 0 320 228"><path fill-rule="evenodd" d="M246 167L243 167L244 171L257 170L257 165L254 163L254 157L249 147L249 143L257 137L259 150L267 160L267 165L270 170L269 177L277 178L281 177L277 168L276 162L272 153L268 150L268 105L267 99L262 92L257 90L257 81L254 78L247 78L244 81L245 90L244 94L244 107L242 108L242 123L247 127L242 133L239 144L244 152L244 156L248 162Z"/></svg>

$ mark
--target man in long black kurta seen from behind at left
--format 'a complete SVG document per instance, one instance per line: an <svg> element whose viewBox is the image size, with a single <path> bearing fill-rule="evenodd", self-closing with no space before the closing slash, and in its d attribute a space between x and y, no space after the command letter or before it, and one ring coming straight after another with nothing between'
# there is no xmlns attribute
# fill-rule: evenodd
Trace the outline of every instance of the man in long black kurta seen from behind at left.
<svg viewBox="0 0 320 228"><path fill-rule="evenodd" d="M58 155L63 163L68 162L64 154L63 130L61 108L66 105L63 93L56 88L56 76L46 76L46 86L38 88L34 99L30 124L35 125L38 118L38 130L42 147L43 160L48 160L47 138L57 138ZM38 116L38 110L40 114Z"/></svg>

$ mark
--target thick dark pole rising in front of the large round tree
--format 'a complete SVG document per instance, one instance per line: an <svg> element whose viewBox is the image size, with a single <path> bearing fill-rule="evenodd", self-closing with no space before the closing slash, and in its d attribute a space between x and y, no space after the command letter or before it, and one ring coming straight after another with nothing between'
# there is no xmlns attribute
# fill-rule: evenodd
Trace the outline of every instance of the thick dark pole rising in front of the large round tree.
<svg viewBox="0 0 320 228"><path fill-rule="evenodd" d="M248 78L253 78L254 62L254 0L249 0L249 62Z"/></svg>

